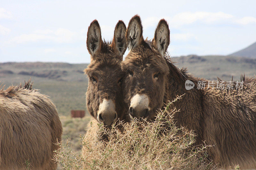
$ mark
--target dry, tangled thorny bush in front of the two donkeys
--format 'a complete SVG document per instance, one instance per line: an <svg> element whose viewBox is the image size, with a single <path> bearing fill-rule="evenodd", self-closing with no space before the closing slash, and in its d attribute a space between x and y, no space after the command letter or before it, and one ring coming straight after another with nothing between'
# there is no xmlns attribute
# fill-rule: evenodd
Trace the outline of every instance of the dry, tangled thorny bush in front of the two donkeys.
<svg viewBox="0 0 256 170"><path fill-rule="evenodd" d="M179 97L180 98L180 97ZM177 98L177 99L179 99ZM172 101L174 102L174 101ZM208 159L207 148L195 147L195 134L174 125L173 114L179 110L172 102L161 110L154 122L134 120L120 123L124 131L101 124L98 134L107 134L108 142L84 140L84 154L72 152L68 143L56 152L62 169L217 169ZM92 138L90 136L90 138Z"/></svg>

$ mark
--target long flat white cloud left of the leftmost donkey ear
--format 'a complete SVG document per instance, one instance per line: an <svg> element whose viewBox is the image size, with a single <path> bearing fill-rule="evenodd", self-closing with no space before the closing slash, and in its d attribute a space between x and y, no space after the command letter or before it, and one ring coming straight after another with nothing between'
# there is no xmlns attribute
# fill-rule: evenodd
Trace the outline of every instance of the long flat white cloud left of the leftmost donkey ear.
<svg viewBox="0 0 256 170"><path fill-rule="evenodd" d="M53 41L58 43L68 43L77 39L76 33L65 28L59 28L56 31L52 30L36 30L34 33L22 34L14 37L11 42L26 43L36 41Z"/></svg>

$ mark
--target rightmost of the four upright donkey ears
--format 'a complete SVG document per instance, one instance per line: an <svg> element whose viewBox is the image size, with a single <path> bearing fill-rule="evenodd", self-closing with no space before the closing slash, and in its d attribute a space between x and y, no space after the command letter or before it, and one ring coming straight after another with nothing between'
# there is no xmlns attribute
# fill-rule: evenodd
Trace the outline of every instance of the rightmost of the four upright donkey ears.
<svg viewBox="0 0 256 170"><path fill-rule="evenodd" d="M165 19L161 19L159 21L152 44L159 51L162 57L164 57L164 54L170 44L170 30Z"/></svg>

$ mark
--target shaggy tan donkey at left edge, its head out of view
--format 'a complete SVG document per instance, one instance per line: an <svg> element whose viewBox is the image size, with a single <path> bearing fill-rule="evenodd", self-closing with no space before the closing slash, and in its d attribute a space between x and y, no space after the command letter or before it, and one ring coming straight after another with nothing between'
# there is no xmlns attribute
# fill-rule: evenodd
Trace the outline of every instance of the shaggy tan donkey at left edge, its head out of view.
<svg viewBox="0 0 256 170"><path fill-rule="evenodd" d="M30 81L0 90L0 169L57 169L61 135L55 105Z"/></svg>

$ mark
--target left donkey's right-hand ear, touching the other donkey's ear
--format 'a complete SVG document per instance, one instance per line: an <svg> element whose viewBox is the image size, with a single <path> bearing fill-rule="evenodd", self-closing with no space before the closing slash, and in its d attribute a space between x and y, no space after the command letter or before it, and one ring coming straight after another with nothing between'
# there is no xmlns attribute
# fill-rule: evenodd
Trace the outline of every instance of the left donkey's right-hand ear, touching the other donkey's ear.
<svg viewBox="0 0 256 170"><path fill-rule="evenodd" d="M111 46L114 48L116 55L120 56L120 59L123 59L124 52L127 48L125 33L126 26L123 21L119 20L115 27L114 38Z"/></svg>

